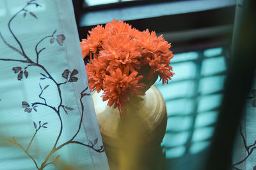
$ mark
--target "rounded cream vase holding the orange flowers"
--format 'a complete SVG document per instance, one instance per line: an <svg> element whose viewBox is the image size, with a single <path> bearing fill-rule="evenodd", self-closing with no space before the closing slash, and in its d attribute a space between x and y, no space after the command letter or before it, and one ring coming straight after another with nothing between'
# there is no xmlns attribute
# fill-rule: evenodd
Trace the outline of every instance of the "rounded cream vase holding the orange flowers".
<svg viewBox="0 0 256 170"><path fill-rule="evenodd" d="M125 117L103 102L102 93L92 94L100 132L111 170L164 169L161 149L167 113L163 96L152 85L145 96L125 105Z"/></svg>

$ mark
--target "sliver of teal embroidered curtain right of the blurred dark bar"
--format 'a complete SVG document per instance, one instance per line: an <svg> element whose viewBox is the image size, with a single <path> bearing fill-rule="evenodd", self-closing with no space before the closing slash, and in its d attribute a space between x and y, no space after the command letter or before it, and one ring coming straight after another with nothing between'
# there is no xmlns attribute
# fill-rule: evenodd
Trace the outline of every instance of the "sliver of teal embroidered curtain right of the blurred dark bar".
<svg viewBox="0 0 256 170"><path fill-rule="evenodd" d="M244 114L234 145L233 165L235 170L256 169L256 78L244 106Z"/></svg>

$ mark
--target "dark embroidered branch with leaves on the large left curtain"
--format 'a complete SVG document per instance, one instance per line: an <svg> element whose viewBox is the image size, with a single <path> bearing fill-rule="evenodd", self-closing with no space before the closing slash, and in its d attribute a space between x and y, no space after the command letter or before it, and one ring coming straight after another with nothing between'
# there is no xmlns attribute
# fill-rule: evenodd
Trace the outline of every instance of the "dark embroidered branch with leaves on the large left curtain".
<svg viewBox="0 0 256 170"><path fill-rule="evenodd" d="M27 155L28 157L30 157L31 160L33 160L33 163L36 166L36 169L44 169L46 166L49 165L54 165L55 167L57 166L57 162L58 159L60 158L60 155L58 155L57 157L55 157L52 161L50 160L52 157L52 154L54 154L55 152L57 152L58 150L60 150L63 146L69 145L69 144L77 144L77 145L83 145L86 146L88 148L91 148L92 150L94 150L95 152L104 152L104 148L103 145L101 145L99 148L97 148L97 143L98 143L98 138L94 139L93 142L92 141L88 141L88 144L85 143L81 143L80 141L76 141L76 136L79 133L80 129L81 129L81 125L83 122L83 115L84 115L84 105L83 105L83 97L85 96L89 96L90 94L86 93L86 90L88 90L88 87L86 87L80 94L80 104L81 104L81 108L82 108L82 113L81 113L81 118L79 121L79 127L76 131L76 133L74 134L74 136L72 136L72 138L70 138L68 141L66 141L65 143L59 144L59 140L63 131L63 122L62 122L62 118L61 118L61 110L65 111L65 113L68 114L68 111L73 111L74 108L70 108L68 106L65 106L63 104L63 97L61 94L61 85L64 85L66 83L70 83L70 82L76 82L78 80L78 78L76 77L76 74L78 74L78 71L76 69L74 69L73 71L70 71L68 69L65 69L65 71L63 71L63 73L61 74L61 76L64 78L64 81L61 83L58 83L51 75L51 73L49 73L49 71L47 71L47 69L45 69L45 67L40 64L40 53L42 53L46 47L44 48L40 48L40 43L42 43L43 41L45 41L46 39L49 39L49 43L54 43L54 41L56 40L56 42L58 43L58 45L63 45L64 41L65 41L65 36L63 34L58 34L55 36L57 30L53 31L51 35L49 36L45 36L44 38L42 38L40 41L38 41L38 43L36 43L35 45L35 53L36 53L36 60L32 60L31 57L29 57L26 52L24 51L24 47L22 46L22 43L20 43L19 39L17 38L17 36L15 36L15 33L12 31L12 21L13 19L17 16L20 15L22 13L23 17L25 18L28 14L31 15L31 17L34 17L36 19L38 19L38 17L35 15L35 13L32 13L31 11L27 10L28 6L31 5L35 5L36 8L40 7L40 4L35 3L36 0L30 0L28 1L28 3L26 4L26 6L24 6L24 8L22 8L20 11L18 11L17 13L15 13L15 15L13 15L13 17L9 20L8 22L8 29L10 31L10 33L12 34L13 38L15 39L15 41L18 43L19 47L15 47L10 45L6 39L4 39L4 36L1 34L0 32L0 39L3 40L4 44L6 46L8 46L11 50L19 53L19 55L22 55L22 57L24 59L0 59L2 61L12 61L12 62L22 62L27 64L26 67L22 68L20 66L15 66L12 68L12 70L14 71L15 74L17 74L17 80L21 81L24 77L28 78L29 76L29 71L28 68L31 66L35 66L35 67L39 67L42 72L40 72L40 74L42 75L42 78L40 78L40 81L44 81L45 79L50 79L52 81L52 83L54 84L54 87L56 87L58 89L58 97L60 97L60 104L58 104L58 106L52 106L51 104L47 103L47 100L42 97L42 94L44 93L45 90L47 90L47 88L50 85L45 85L45 87L42 87L42 85L39 83L39 88L41 90L40 94L38 94L38 97L42 100L41 102L35 102L35 103L31 103L29 104L26 101L22 101L21 105L22 108L24 108L25 112L31 113L32 111L38 111L37 106L42 105L48 108L51 108L52 111L54 111L54 113L56 113L56 115L58 116L58 120L60 121L60 131L58 132L58 137L56 138L54 145L52 146L51 152L49 152L49 154L47 155L47 157L45 158L44 162L42 162L42 164L39 164L38 162L36 162L36 159L33 158L30 154L29 154L29 147L31 146L31 144L33 143L33 140L35 139L35 136L37 134L38 131L42 131L42 129L47 128L48 122L44 122L42 123L41 121L39 121L38 123L33 122L33 126L35 128L35 133L33 134L31 141L28 143L28 146L25 148L24 146L20 145L19 142L13 137L12 139L9 139L9 141L11 143L13 143L14 145L19 146L19 148L21 148Z"/></svg>

